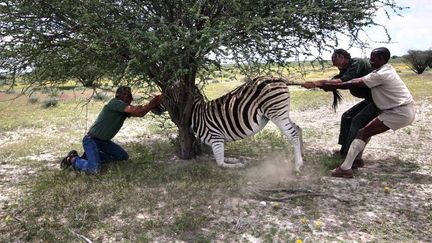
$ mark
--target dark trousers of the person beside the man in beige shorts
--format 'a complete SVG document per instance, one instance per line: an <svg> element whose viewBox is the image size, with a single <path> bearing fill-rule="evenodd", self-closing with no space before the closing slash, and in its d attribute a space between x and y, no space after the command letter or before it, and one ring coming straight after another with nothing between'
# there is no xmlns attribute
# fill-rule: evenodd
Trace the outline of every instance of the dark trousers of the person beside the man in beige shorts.
<svg viewBox="0 0 432 243"><path fill-rule="evenodd" d="M342 146L341 153L348 153L351 142L356 138L358 131L380 113L381 111L373 101L363 100L342 114L338 142Z"/></svg>

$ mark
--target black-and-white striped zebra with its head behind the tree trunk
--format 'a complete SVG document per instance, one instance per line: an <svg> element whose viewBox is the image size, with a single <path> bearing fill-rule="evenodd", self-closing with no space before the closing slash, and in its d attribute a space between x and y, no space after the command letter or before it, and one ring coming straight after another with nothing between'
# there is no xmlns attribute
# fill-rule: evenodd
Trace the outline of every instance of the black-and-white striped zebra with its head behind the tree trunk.
<svg viewBox="0 0 432 243"><path fill-rule="evenodd" d="M225 142L236 141L260 132L272 121L294 146L295 170L303 165L302 130L292 122L290 83L284 78L260 76L215 100L205 101L197 89L194 94L190 127L195 136L210 145L220 167L243 167L226 163Z"/></svg>

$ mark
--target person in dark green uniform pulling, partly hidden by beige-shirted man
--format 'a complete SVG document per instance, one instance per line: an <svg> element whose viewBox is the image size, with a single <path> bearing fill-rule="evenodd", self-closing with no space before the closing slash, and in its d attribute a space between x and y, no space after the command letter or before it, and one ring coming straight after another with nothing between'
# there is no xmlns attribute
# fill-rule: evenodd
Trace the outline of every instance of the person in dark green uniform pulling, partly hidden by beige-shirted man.
<svg viewBox="0 0 432 243"><path fill-rule="evenodd" d="M372 72L372 67L367 60L351 58L351 55L344 49L336 49L332 55L333 66L339 69L339 74L331 80L319 80L315 82L305 82L303 87L320 87L324 82L346 82L348 80L363 77ZM350 93L363 100L345 111L341 117L340 133L338 143L341 145L338 153L346 156L351 142L355 139L358 130L366 126L373 118L379 115L380 110L372 100L371 90L368 87L350 89ZM361 153L354 162L355 167L363 166Z"/></svg>

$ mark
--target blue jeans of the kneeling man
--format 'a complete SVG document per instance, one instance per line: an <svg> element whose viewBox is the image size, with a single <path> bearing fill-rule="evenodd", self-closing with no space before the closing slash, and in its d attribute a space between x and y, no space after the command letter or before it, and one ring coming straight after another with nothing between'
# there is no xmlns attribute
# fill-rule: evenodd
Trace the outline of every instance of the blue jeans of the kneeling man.
<svg viewBox="0 0 432 243"><path fill-rule="evenodd" d="M87 158L76 157L73 162L74 169L78 171L97 173L101 169L102 162L129 159L128 153L111 140L103 141L85 135L83 148Z"/></svg>

